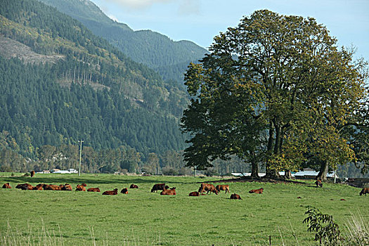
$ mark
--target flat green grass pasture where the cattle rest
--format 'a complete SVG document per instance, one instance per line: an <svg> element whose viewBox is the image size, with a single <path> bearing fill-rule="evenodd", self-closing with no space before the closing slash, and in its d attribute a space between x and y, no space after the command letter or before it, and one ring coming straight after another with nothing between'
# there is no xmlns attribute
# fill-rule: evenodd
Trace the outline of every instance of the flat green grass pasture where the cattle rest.
<svg viewBox="0 0 369 246"><path fill-rule="evenodd" d="M369 197L361 189L313 181L294 183L226 183L242 200L219 195L188 197L202 181L219 178L114 176L110 174L0 174L1 245L316 245L302 221L306 206L330 214L344 233L351 213L369 221ZM18 183L70 183L99 187L101 193L19 190ZM138 189L120 190L131 183ZM176 187L175 196L150 193L153 184ZM225 183L214 183L225 184ZM250 194L264 188L264 193ZM118 195L102 192L118 188ZM301 199L297 198L301 197ZM344 200L341 200L344 199Z"/></svg>

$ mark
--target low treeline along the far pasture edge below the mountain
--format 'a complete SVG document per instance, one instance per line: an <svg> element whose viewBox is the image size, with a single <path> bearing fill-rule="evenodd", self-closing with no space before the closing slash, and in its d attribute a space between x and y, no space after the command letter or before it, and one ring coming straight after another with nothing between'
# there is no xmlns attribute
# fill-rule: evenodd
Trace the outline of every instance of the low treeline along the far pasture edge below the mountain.
<svg viewBox="0 0 369 246"><path fill-rule="evenodd" d="M19 146L7 131L0 133L0 171L43 171L51 169L78 169L79 143L74 145L42 145L34 150L34 159L22 157L16 150ZM185 167L183 151L167 150L164 153L137 152L135 148L119 146L118 148L94 149L82 145L81 171L84 173L115 173L122 174L164 174L193 175L193 169ZM233 171L250 171L245 163L237 157L231 160L214 161L214 167L196 174L207 176L225 175Z"/></svg>

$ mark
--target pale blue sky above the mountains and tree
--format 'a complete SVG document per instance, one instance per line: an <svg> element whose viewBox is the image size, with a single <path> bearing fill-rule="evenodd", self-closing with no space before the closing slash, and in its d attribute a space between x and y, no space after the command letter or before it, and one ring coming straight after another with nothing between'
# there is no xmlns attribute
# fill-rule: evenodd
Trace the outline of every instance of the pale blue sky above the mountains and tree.
<svg viewBox="0 0 369 246"><path fill-rule="evenodd" d="M369 0L91 0L110 18L133 30L153 30L174 41L209 47L219 32L244 15L268 9L316 18L338 39L369 61Z"/></svg>

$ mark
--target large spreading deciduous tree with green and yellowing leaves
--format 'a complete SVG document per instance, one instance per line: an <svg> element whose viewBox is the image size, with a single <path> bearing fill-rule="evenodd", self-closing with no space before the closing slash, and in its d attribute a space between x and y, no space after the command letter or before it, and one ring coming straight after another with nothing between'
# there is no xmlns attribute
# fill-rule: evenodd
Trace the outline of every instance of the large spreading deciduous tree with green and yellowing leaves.
<svg viewBox="0 0 369 246"><path fill-rule="evenodd" d="M193 97L181 119L192 137L188 166L238 155L252 163L252 176L262 162L273 177L299 168L306 153L331 165L355 159L340 130L365 98L365 77L323 25L255 11L210 51L185 76Z"/></svg>

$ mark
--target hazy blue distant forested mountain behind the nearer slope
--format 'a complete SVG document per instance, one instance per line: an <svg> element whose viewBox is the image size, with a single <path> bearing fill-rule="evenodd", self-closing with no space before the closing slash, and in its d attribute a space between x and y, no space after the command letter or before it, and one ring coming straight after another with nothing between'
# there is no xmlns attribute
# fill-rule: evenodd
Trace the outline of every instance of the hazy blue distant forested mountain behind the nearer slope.
<svg viewBox="0 0 369 246"><path fill-rule="evenodd" d="M108 40L138 63L148 65L164 79L183 81L188 64L208 51L191 41L172 41L150 30L134 32L115 22L89 0L40 0L82 22L94 34Z"/></svg>

